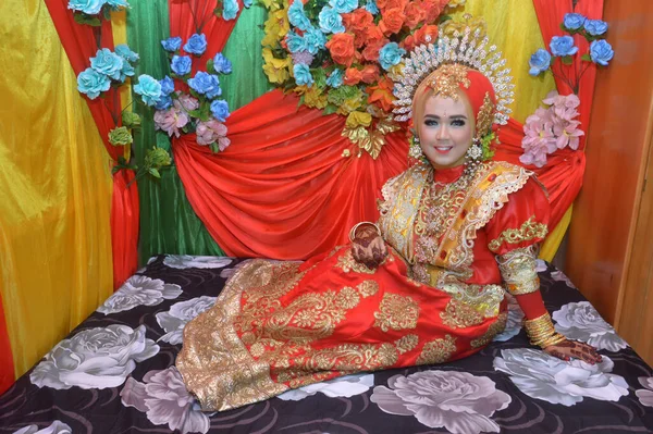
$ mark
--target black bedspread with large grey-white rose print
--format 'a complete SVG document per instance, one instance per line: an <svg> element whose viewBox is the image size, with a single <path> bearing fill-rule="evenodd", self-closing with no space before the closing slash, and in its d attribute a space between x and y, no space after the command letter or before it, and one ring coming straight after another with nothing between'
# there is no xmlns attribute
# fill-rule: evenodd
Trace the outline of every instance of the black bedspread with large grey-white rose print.
<svg viewBox="0 0 653 434"><path fill-rule="evenodd" d="M653 432L653 370L544 262L542 293L556 328L599 348L601 364L530 347L510 300L505 332L467 359L201 412L174 368L182 330L244 261L152 258L0 397L0 433Z"/></svg>

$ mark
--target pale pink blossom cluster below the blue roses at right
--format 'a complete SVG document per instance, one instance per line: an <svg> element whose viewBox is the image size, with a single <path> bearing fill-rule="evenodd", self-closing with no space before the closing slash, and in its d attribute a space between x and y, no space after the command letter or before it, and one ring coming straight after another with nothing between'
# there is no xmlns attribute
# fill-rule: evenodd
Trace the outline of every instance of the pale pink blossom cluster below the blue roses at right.
<svg viewBox="0 0 653 434"><path fill-rule="evenodd" d="M546 164L546 156L558 149L569 147L578 149L579 137L584 133L578 127L580 121L578 111L580 100L574 94L560 96L555 90L542 100L547 107L539 108L526 120L521 141L525 149L519 161L542 168Z"/></svg>

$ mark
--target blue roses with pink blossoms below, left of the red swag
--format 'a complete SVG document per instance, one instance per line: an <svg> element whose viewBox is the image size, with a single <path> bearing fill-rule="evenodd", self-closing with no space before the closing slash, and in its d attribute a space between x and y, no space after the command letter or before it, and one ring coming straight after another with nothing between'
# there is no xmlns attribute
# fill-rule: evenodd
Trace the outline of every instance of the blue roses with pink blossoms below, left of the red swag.
<svg viewBox="0 0 653 434"><path fill-rule="evenodd" d="M157 82L161 98L155 103L155 126L170 137L196 133L198 145L208 146L213 152L223 151L230 145L224 125L230 111L229 103L219 98L222 95L220 75L231 74L232 64L222 53L217 53L207 62L206 71L198 71L192 77L190 55L199 58L205 53L206 36L190 36L183 46L186 54L181 52L182 44L180 37L161 41L170 58L172 77ZM175 88L175 83L183 86Z"/></svg>

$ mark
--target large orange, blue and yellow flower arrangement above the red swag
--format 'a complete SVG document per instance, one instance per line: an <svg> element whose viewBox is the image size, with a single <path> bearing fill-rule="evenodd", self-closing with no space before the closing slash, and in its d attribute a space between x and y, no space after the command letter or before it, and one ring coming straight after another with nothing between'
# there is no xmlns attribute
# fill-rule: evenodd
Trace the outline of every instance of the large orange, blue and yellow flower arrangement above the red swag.
<svg viewBox="0 0 653 434"><path fill-rule="evenodd" d="M445 9L464 0L261 0L268 79L299 104L347 116L343 135L373 158L391 120L393 74L415 46L438 37Z"/></svg>

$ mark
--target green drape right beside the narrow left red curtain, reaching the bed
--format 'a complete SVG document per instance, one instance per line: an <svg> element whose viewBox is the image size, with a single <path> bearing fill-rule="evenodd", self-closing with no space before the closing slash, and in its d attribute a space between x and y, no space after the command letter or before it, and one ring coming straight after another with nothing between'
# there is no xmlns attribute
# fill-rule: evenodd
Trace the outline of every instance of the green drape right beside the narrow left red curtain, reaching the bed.
<svg viewBox="0 0 653 434"><path fill-rule="evenodd" d="M168 1L132 1L130 4L127 41L140 55L136 76L148 74L162 78L170 74L169 60L161 47L161 40L170 36ZM136 162L141 165L146 150L155 144L170 152L170 139L164 133L155 132L152 109L135 103L134 111L143 117L143 126L134 135ZM139 262L157 253L224 255L188 203L174 162L160 172L161 179L149 175L138 179Z"/></svg>

